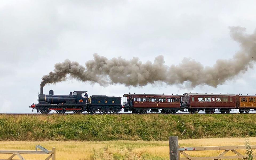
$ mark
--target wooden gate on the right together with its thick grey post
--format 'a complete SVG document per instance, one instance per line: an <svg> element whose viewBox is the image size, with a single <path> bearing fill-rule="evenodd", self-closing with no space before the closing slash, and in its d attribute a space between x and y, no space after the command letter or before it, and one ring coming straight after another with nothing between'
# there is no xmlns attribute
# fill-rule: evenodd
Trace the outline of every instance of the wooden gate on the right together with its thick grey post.
<svg viewBox="0 0 256 160"><path fill-rule="evenodd" d="M180 147L178 137L169 137L170 160L217 160L217 159L247 159L247 155L239 153L237 150L246 149L246 146L212 146L212 147ZM256 145L252 145L251 149L256 149ZM211 151L223 150L221 154L215 157L191 157L186 152L188 151ZM225 156L227 152L233 152L234 156ZM181 154L185 157L181 157ZM256 155L254 155L256 157Z"/></svg>

